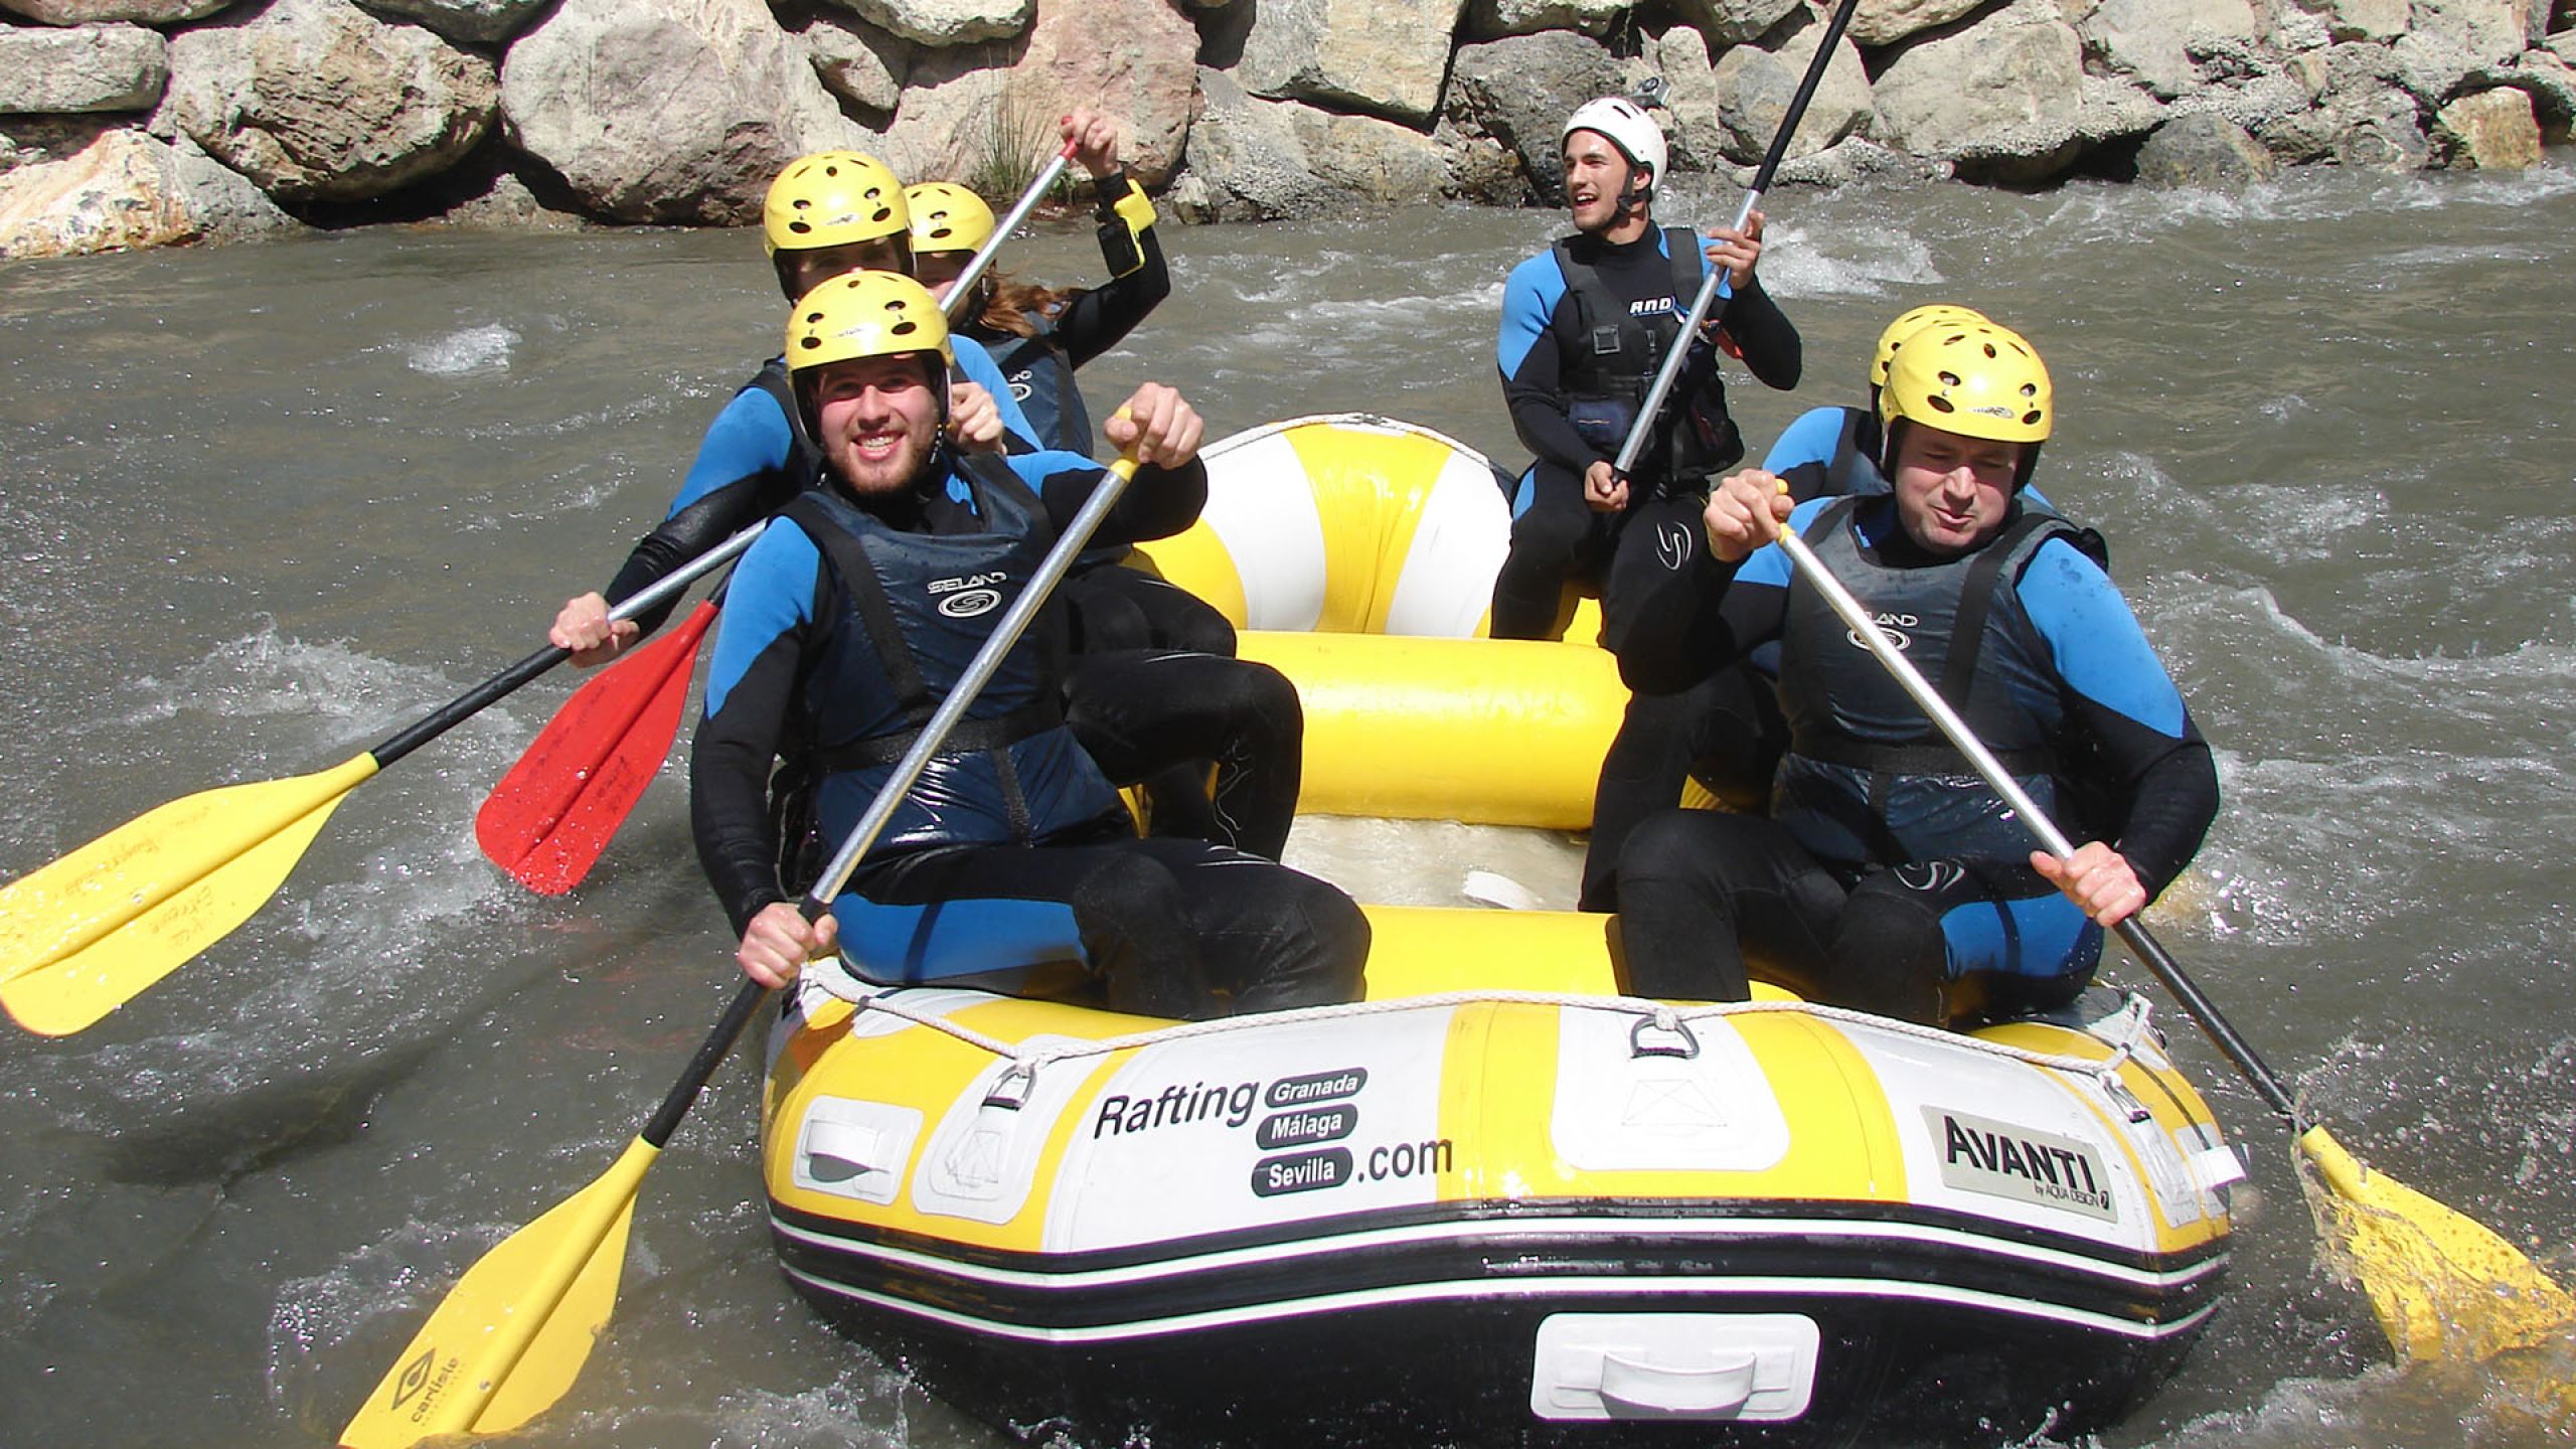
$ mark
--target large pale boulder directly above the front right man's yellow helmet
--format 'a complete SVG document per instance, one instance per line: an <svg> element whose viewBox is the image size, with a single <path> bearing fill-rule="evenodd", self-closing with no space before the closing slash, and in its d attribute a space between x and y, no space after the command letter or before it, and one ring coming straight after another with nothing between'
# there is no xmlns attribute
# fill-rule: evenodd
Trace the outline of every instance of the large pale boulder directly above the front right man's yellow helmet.
<svg viewBox="0 0 2576 1449"><path fill-rule="evenodd" d="M1880 67L1878 139L1963 175L2043 180L2081 150L2084 41L2053 0L1929 31Z"/></svg>

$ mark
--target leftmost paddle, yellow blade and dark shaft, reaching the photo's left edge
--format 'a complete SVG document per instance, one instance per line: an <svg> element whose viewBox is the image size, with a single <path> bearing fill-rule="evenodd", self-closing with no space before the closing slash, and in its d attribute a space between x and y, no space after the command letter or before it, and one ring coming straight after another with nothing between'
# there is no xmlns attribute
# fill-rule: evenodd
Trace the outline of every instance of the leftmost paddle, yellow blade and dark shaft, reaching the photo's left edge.
<svg viewBox="0 0 2576 1449"><path fill-rule="evenodd" d="M629 598L618 616L680 593L752 534ZM538 650L340 766L173 799L10 882L0 890L0 1006L46 1036L93 1026L250 920L350 789L564 657Z"/></svg>

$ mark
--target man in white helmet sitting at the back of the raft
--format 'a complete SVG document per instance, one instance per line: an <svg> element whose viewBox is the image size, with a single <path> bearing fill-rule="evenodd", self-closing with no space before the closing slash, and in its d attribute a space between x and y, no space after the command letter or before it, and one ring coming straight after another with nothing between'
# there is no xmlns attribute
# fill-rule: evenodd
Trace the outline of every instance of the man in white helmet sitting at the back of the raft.
<svg viewBox="0 0 2576 1449"><path fill-rule="evenodd" d="M1708 482L1744 456L1726 415L1718 343L1770 387L1798 384L1798 330L1762 291L1762 211L1744 232L1703 242L1654 222L1664 131L1633 101L1605 95L1566 116L1566 206L1574 235L1512 268L1494 351L1512 428L1535 462L1512 498L1512 552L1494 578L1497 639L1558 629L1564 585L1592 575L1602 593L1602 645L1623 650L1641 598L1690 562ZM1682 340L1682 317L1708 268L1723 268L1716 330L1690 338L1662 418L1631 477L1613 462ZM1680 696L1638 696L1595 797L1587 910L1613 910L1618 841L1682 789Z"/></svg>

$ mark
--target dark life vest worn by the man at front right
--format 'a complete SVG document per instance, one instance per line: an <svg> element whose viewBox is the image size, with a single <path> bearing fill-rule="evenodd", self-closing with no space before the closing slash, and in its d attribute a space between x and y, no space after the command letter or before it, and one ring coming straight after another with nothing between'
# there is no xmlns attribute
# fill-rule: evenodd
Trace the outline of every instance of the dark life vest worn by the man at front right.
<svg viewBox="0 0 2576 1449"><path fill-rule="evenodd" d="M2061 681L2014 585L2050 539L2099 562L2092 531L2017 500L1986 547L1937 565L1888 567L1852 529L1873 503L1893 508L1862 498L1826 508L1806 529L1808 547L2004 771L2053 812L2063 776ZM1790 580L1780 627L1780 712L1790 748L1772 815L1819 859L1842 866L2020 859L2032 848L1976 766L1852 639L1803 575Z"/></svg>

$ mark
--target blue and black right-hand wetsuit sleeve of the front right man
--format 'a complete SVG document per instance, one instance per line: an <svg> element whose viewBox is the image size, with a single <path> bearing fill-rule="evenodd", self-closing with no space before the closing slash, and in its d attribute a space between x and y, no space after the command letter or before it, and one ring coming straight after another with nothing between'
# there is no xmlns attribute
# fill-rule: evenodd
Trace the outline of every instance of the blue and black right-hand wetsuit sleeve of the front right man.
<svg viewBox="0 0 2576 1449"><path fill-rule="evenodd" d="M2128 601L2074 544L2040 544L2017 593L2048 642L2069 714L2099 748L2087 763L2110 802L2102 833L2128 856L2148 895L2161 895L2192 864L2218 817L2210 745Z"/></svg>

